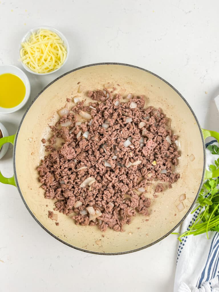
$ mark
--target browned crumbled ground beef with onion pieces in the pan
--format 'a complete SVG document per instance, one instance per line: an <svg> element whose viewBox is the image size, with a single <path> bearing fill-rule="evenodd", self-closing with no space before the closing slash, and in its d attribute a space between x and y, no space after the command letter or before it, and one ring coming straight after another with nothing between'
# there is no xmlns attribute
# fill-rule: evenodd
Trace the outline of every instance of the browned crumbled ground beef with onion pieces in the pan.
<svg viewBox="0 0 219 292"><path fill-rule="evenodd" d="M90 106L95 109L78 102L51 126L53 137L46 147L51 153L37 168L39 179L45 198L56 200L56 211L67 215L74 212L76 224L98 225L102 231L107 227L123 231L123 225L130 224L136 212L149 215L151 202L145 193L153 179L168 182L171 187L180 177L173 169L180 156L174 142L177 136L166 126L167 118L160 108L144 108L142 96L124 103L119 94L106 90L90 91L88 95L94 100ZM130 108L135 103L137 107ZM92 120L75 125L82 109ZM128 118L132 121L127 122ZM61 126L66 121L71 121L71 125ZM105 129L102 124L109 127ZM77 138L79 131L82 133ZM86 131L88 138L82 136ZM57 150L56 137L64 140ZM126 140L131 142L128 147L124 146ZM131 164L136 161L139 164ZM93 182L81 186L87 178L93 178ZM163 190L162 183L155 188L156 192ZM77 204L81 206L75 207ZM95 215L89 216L89 206Z"/></svg>

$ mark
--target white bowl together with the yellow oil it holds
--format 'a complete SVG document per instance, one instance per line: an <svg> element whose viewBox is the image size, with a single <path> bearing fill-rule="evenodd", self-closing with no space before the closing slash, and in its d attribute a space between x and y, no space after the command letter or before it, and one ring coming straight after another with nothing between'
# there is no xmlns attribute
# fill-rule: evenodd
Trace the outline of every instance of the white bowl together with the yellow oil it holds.
<svg viewBox="0 0 219 292"><path fill-rule="evenodd" d="M27 75L13 65L0 66L0 88L0 114L18 111L30 96Z"/></svg>

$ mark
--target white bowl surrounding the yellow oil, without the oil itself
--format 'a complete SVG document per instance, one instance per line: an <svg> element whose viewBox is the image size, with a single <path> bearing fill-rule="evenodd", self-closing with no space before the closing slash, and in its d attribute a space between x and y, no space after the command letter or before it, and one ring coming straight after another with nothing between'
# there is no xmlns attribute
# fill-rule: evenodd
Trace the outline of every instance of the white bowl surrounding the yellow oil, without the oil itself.
<svg viewBox="0 0 219 292"><path fill-rule="evenodd" d="M22 100L22 102L19 103L19 105L16 105L16 107L9 107L9 108L0 107L0 114L11 114L21 109L26 104L30 96L30 82L29 82L29 79L27 78L27 75L21 69L13 65L0 65L0 75L4 73L11 73L20 77L20 79L24 82L24 85L26 88L25 97Z"/></svg>

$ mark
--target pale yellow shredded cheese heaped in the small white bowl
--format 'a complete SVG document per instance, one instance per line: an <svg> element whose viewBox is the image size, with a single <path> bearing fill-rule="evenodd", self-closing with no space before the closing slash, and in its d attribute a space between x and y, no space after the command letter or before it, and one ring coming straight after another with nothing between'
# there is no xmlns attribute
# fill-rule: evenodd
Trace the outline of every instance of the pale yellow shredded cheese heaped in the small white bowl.
<svg viewBox="0 0 219 292"><path fill-rule="evenodd" d="M63 40L47 29L39 29L21 44L20 60L36 73L48 73L61 67L67 51Z"/></svg>

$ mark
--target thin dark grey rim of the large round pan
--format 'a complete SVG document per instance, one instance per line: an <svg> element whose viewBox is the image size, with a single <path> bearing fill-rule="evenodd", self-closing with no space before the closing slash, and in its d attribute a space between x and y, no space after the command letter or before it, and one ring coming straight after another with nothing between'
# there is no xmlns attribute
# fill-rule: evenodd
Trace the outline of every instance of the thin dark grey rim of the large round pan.
<svg viewBox="0 0 219 292"><path fill-rule="evenodd" d="M77 71L77 70L80 70L80 69L83 69L83 68L87 68L87 67L92 67L92 66L98 66L98 65L121 65L121 66L127 66L127 67L132 67L132 68L136 68L136 69L139 69L139 70L142 70L144 72L147 72L149 74L152 74L154 75L155 77L159 78L160 80L164 81L168 86L170 86L181 98L182 100L186 103L186 105L189 107L190 111L192 112L193 116L194 116L194 119L198 125L198 128L199 128L199 132L201 134L201 140L202 140L202 147L203 147L203 154L204 154L204 165L203 165L203 172L202 172L202 178L201 178L201 182L200 182L200 185L199 185L199 189L197 191L197 195L192 203L192 205L190 206L189 210L187 211L187 213L183 216L183 218L180 220L180 222L175 225L169 232L167 232L164 236L162 236L161 238L157 239L156 241L150 243L150 244L147 244L145 246L142 246L140 248L136 248L136 249L133 249L133 250L130 250L130 251L122 251L122 252L115 252L115 253L104 253L104 252L95 252L95 251L88 251L88 250L85 250L83 248L79 248L77 246L73 246L72 244L69 244L65 241L63 241L62 239L60 239L59 237L57 237L55 234L53 234L51 231L49 231L43 224L41 224L41 222L35 217L35 215L32 213L32 211L30 210L29 206L27 205L23 195L22 195L22 192L20 190L20 186L19 186L19 183L18 183L18 177L17 177L17 173L16 173L16 167L15 167L15 152L16 152L16 145L17 145L17 138L18 138L18 134L19 134L19 131L20 131L20 128L22 126L22 123L23 123L23 120L24 118L26 117L26 114L27 112L29 111L30 107L32 107L32 105L34 104L34 102L36 101L36 99L41 95L41 93L43 93L43 91L46 90L46 88L48 88L49 86L51 86L55 81L59 80L60 78L64 77L65 75L67 74L70 74L74 71ZM15 135L15 141L14 141L14 149L13 149L13 169L14 169L14 178L15 178L15 183L16 183L16 186L18 188L18 191L20 193L20 196L21 196L21 199L23 201L23 203L25 204L27 210L29 211L29 213L31 214L31 216L34 218L34 220L48 233L50 234L53 238L57 239L58 241L62 242L63 244L71 247L71 248L74 248L74 249L77 249L79 251L83 251L83 252L86 252L86 253L92 253L92 254L97 254L97 255L109 255L109 256L112 256L112 255L122 255L122 254L127 254L127 253L133 253L135 251L140 251L142 249L145 249L147 247L150 247L156 243L158 243L159 241L161 241L162 239L166 238L169 234L171 234L184 220L185 218L187 217L187 215L191 212L194 204L195 204L195 201L197 200L197 197L199 195L199 192L201 190L201 187L202 187L202 183L203 183L203 180L204 180L204 174L205 174L205 169L206 169L206 152L205 152L205 142L204 142L204 137L203 137L203 133L202 133L202 130L201 130L201 126L199 124L199 121L195 115L195 113L193 112L191 106L189 105L189 103L185 100L185 98L183 97L183 95L181 95L181 93L175 88L173 87L170 83L168 83L165 79L163 79L162 77L158 76L157 74L147 70L147 69L144 69L144 68L141 68L141 67L138 67L138 66L135 66L135 65L130 65L130 64L125 64L125 63L117 63L117 62L101 62L101 63L94 63L94 64L90 64L90 65L85 65L85 66L81 66L81 67L78 67L76 69L72 69L64 74L62 74L61 76L57 77L56 79L54 79L53 81L51 81L47 86L45 86L39 93L38 95L36 95L36 97L34 98L34 100L31 102L31 104L28 106L25 114L23 115L21 121L20 121L20 124L19 124L19 127L18 127L18 130L16 132L16 135Z"/></svg>

